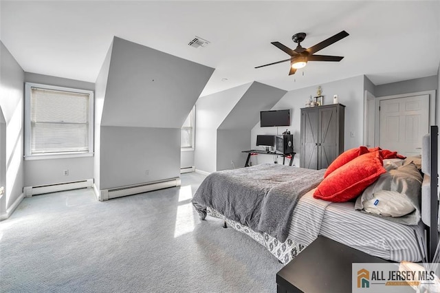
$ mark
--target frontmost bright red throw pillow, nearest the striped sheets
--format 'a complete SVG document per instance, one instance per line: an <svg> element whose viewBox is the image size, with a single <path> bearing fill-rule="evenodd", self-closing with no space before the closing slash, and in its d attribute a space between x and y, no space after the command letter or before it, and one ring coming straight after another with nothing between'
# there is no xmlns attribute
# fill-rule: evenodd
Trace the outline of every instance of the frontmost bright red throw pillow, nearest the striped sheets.
<svg viewBox="0 0 440 293"><path fill-rule="evenodd" d="M386 173L379 151L360 155L324 178L316 188L315 198L329 202L348 202Z"/></svg>

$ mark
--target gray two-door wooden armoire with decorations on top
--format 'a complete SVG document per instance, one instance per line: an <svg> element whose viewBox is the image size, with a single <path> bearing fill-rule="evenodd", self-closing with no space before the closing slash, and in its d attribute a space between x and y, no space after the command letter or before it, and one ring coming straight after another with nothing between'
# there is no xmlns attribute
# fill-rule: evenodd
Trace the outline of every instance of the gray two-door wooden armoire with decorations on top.
<svg viewBox="0 0 440 293"><path fill-rule="evenodd" d="M324 169L344 151L342 104L301 109L300 167Z"/></svg>

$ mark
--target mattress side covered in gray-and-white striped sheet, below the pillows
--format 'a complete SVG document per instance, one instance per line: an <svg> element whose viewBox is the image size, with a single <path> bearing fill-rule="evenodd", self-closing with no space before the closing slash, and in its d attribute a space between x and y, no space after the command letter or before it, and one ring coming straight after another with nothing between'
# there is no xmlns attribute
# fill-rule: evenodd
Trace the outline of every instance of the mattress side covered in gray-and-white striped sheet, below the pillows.
<svg viewBox="0 0 440 293"><path fill-rule="evenodd" d="M327 206L320 235L382 259L422 261L423 224L406 226L360 213L353 202Z"/></svg>

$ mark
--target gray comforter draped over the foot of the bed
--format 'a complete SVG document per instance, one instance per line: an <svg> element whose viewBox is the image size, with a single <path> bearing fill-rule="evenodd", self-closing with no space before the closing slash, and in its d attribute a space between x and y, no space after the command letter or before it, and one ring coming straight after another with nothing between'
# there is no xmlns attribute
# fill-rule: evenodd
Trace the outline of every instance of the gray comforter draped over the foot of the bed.
<svg viewBox="0 0 440 293"><path fill-rule="evenodd" d="M298 199L318 186L324 171L261 164L214 172L203 180L192 204L201 219L209 206L228 219L284 242Z"/></svg>

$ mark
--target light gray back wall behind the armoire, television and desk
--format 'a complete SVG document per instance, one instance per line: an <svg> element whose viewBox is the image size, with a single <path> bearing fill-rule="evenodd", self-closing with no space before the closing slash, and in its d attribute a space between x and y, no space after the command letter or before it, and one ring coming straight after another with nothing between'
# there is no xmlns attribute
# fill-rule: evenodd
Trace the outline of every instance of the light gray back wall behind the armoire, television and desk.
<svg viewBox="0 0 440 293"><path fill-rule="evenodd" d="M287 92L281 100L279 100L272 109L291 109L290 127L260 127L257 123L251 132L252 149L256 146L257 134L281 134L288 129L294 135L294 158L295 166L300 166L300 109L305 107L305 102L309 100L309 96L316 96L316 88L305 87ZM333 95L338 95L340 104L345 105L345 133L344 133L344 149L351 149L362 144L363 138L363 115L364 115L364 76L355 76L342 80L336 80L331 83L323 83L322 95L324 96L323 105L333 103ZM354 137L351 138L350 131ZM252 158L252 164L273 163L274 158L270 155L257 155ZM283 162L282 158L278 158L278 162ZM287 164L287 163L286 163Z"/></svg>

